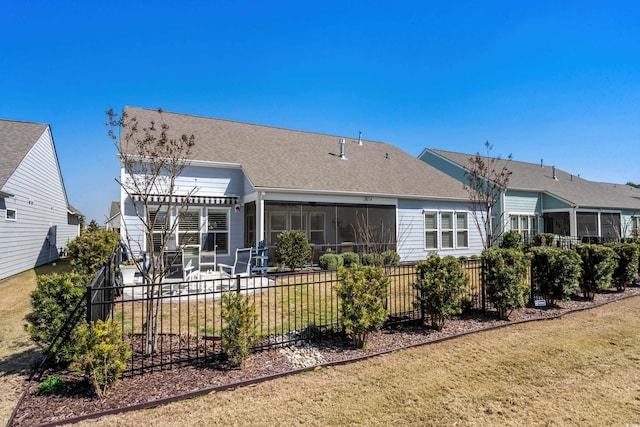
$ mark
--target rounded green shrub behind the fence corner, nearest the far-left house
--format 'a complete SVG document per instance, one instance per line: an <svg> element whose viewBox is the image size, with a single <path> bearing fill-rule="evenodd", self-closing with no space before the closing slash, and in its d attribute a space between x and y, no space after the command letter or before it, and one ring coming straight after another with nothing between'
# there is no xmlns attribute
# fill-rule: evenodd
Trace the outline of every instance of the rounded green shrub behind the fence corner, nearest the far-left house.
<svg viewBox="0 0 640 427"><path fill-rule="evenodd" d="M118 232L97 230L83 233L67 244L71 267L78 274L93 276L118 245Z"/></svg>

